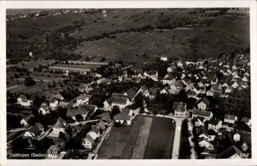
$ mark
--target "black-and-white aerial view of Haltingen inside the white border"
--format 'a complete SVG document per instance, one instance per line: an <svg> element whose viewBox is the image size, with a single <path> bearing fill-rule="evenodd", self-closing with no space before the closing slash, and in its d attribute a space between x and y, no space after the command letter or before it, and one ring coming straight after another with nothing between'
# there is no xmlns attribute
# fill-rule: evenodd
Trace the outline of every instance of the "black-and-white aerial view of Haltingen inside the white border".
<svg viewBox="0 0 257 166"><path fill-rule="evenodd" d="M7 159L252 158L249 12L7 9Z"/></svg>

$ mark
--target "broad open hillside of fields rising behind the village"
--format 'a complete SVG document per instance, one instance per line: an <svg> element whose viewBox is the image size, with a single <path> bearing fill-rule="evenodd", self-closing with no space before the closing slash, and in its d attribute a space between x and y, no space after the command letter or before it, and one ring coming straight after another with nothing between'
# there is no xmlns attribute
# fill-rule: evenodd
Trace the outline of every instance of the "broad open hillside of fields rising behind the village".
<svg viewBox="0 0 257 166"><path fill-rule="evenodd" d="M249 47L249 11L229 10L228 14L204 16L189 14L190 9L109 9L102 13L70 13L7 22L7 48L15 43L28 46L34 41L43 42L52 33L70 25L65 33L80 40L72 52L101 58L145 62L156 57L216 57ZM159 29L158 25L170 24L173 30L144 32L114 32L146 25ZM194 27L193 25L208 27ZM191 29L185 29L191 25ZM72 28L76 26L76 28ZM162 28L163 29L163 28ZM109 34L109 38L86 40L92 36ZM21 42L22 41L22 42ZM11 46L11 45L10 45ZM47 49L47 48L46 48ZM41 51L46 52L46 51ZM143 56L145 54L145 56ZM40 56L40 55L38 55ZM7 54L8 57L8 54Z"/></svg>

